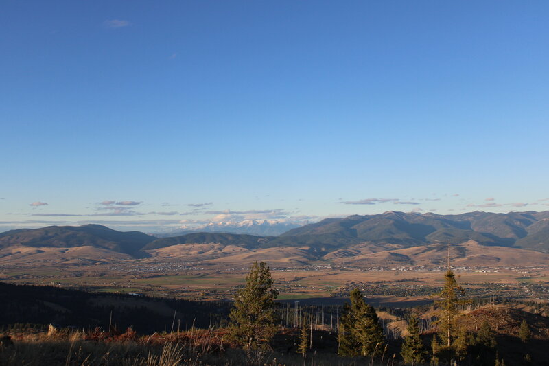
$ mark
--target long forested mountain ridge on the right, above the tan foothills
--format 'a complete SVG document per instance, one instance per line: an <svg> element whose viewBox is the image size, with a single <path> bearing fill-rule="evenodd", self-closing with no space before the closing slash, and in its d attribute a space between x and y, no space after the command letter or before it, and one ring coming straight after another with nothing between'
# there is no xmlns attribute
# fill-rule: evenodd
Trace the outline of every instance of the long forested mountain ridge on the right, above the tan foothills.
<svg viewBox="0 0 549 366"><path fill-rule="evenodd" d="M334 238L348 243L375 242L406 247L434 242L457 244L476 240L484 245L519 247L549 252L549 211L469 212L460 215L417 214L388 211L377 215L328 218L283 233L282 238L307 237L309 241L333 244ZM292 240L290 240L292 241Z"/></svg>

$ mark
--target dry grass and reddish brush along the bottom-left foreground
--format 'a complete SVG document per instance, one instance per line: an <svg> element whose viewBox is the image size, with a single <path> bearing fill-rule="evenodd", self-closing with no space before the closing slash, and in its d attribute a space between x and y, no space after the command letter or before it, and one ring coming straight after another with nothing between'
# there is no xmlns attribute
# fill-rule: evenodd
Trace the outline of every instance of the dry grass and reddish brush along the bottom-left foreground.
<svg viewBox="0 0 549 366"><path fill-rule="evenodd" d="M45 332L19 332L11 334L12 345L2 347L0 365L392 365L390 361L393 360L387 355L384 355L383 361L379 358L373 362L365 358L342 358L333 352L323 352L320 341L322 334L317 334L315 337L320 341L317 351L307 354L304 360L303 356L293 350L294 332L296 331L288 330L286 334L281 334L279 350L249 353L227 342L225 330L189 330L172 334L155 333L150 336L138 336L130 329L124 333L93 330L53 336Z"/></svg>

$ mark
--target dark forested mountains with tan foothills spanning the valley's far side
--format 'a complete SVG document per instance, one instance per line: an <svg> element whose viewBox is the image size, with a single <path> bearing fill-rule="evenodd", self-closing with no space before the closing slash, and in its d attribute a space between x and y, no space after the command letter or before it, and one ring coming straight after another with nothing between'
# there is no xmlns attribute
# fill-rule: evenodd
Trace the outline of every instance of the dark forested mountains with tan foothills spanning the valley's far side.
<svg viewBox="0 0 549 366"><path fill-rule="evenodd" d="M388 211L328 218L280 236L202 232L156 238L101 225L19 229L0 234L0 262L146 258L207 264L436 264L447 242L454 244L454 255L464 265L549 264L549 256L541 254L549 253L549 211Z"/></svg>

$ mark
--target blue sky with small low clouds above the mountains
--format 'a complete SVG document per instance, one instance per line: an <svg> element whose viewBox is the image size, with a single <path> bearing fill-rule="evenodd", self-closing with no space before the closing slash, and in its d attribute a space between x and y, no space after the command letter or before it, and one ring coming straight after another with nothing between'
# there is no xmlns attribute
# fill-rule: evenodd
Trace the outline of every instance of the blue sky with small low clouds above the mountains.
<svg viewBox="0 0 549 366"><path fill-rule="evenodd" d="M548 19L548 1L3 1L0 231L548 210Z"/></svg>

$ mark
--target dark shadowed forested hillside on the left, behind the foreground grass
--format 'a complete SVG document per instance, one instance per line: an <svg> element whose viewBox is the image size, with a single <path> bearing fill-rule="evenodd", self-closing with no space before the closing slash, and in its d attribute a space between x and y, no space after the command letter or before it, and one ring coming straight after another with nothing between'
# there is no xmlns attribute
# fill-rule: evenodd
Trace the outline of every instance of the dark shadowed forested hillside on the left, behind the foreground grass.
<svg viewBox="0 0 549 366"><path fill-rule="evenodd" d="M0 282L0 325L35 323L74 325L78 328L161 332L180 321L183 329L193 324L206 328L229 314L230 304L215 301L187 301L110 293L88 293L51 286L13 285Z"/></svg>

